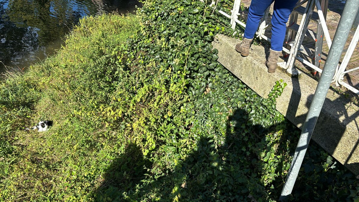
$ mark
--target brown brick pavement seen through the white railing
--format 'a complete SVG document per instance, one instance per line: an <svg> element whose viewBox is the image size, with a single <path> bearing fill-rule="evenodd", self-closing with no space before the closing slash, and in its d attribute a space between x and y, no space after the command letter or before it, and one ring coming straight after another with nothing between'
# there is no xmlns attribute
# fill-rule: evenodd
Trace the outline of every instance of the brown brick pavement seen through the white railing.
<svg viewBox="0 0 359 202"><path fill-rule="evenodd" d="M337 28L339 20L340 20L340 16L344 9L345 1L346 0L329 0L328 1L326 24L328 27L328 31L329 31L331 40L333 40L333 38L334 38L335 31L336 31L336 28ZM242 0L241 1L241 3L244 5L244 7L249 7L250 2L251 2L251 0ZM306 4L304 4L303 6L305 6L305 5ZM271 6L270 13L272 13L272 11L273 11L273 5ZM246 16L244 16L244 18L246 18ZM269 20L270 19L268 19L268 21ZM301 20L301 15L298 15L298 24L300 23L300 20ZM315 21L311 20L311 22L309 23L308 29L310 29L316 33L317 32L317 23ZM355 28L351 29L349 37L348 37L348 41L345 44L345 48L344 48L344 51L343 51L341 59L340 59L340 63L341 63L342 59L344 58L344 55L346 53L346 50L348 49L350 41L353 38L354 32L355 32ZM271 35L270 30L266 30L265 35L270 37L270 35ZM313 40L311 40L310 38L305 37L303 40L303 46L308 47L312 52L314 52L315 42ZM324 38L322 59L321 59L321 65L320 65L321 69L323 68L323 66L325 64L326 57L328 55L328 51L329 51L328 45ZM304 56L304 55L302 55L302 56ZM306 58L309 59L308 57L306 57ZM312 63L314 63L314 61L312 61ZM299 63L299 62L296 62L296 65L298 65L298 67L300 69L303 69L303 68L310 69L306 65L303 65L302 63ZM352 69L352 68L355 68L358 66L359 66L359 43L356 45L356 48L353 52L353 55L350 58L349 64L346 69L348 70L348 69ZM359 88L359 70L356 70L354 72L350 72L349 74L346 74L344 76L344 79L346 82L348 82L352 86Z"/></svg>

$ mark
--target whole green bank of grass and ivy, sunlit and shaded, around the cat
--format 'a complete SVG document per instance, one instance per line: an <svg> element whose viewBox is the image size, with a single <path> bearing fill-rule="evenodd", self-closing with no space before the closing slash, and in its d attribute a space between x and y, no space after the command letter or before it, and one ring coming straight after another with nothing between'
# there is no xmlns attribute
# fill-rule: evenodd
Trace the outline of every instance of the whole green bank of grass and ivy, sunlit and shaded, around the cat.
<svg viewBox="0 0 359 202"><path fill-rule="evenodd" d="M210 2L146 1L81 20L66 47L0 87L0 201L275 201L299 131L216 60ZM217 8L221 5L216 4ZM53 120L47 132L27 132ZM311 142L291 200L358 201Z"/></svg>

